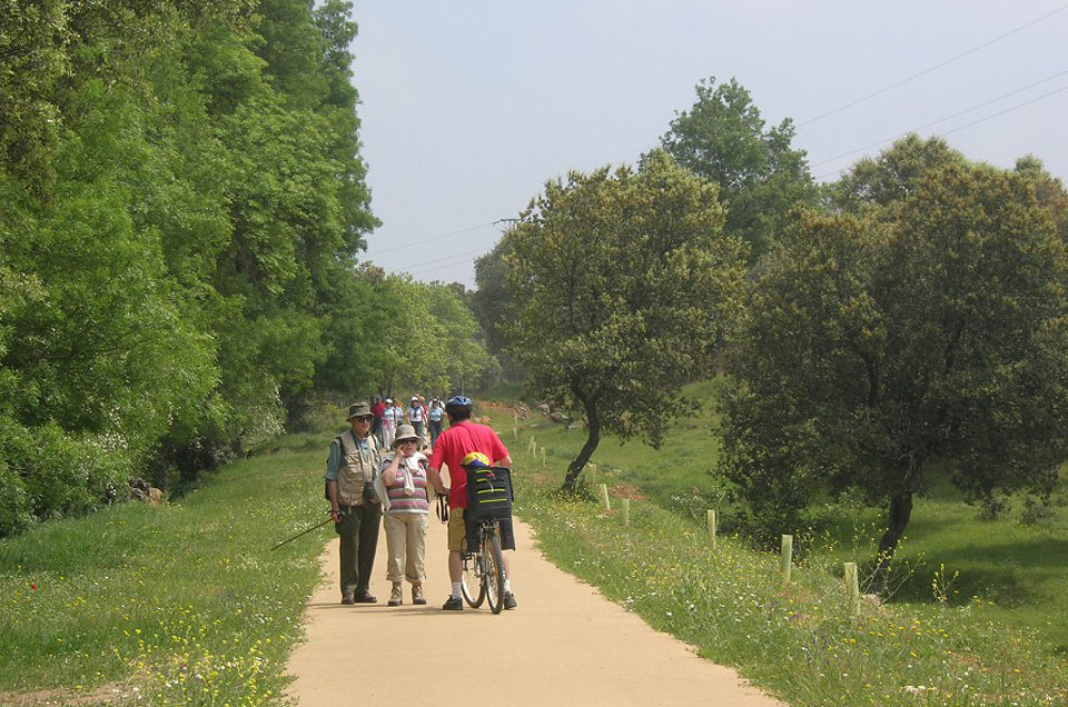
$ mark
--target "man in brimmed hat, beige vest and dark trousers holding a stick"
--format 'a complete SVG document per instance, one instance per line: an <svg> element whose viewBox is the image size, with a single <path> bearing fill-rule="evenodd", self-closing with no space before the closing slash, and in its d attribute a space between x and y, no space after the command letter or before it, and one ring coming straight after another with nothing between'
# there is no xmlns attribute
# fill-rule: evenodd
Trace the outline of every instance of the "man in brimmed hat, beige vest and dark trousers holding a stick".
<svg viewBox="0 0 1068 707"><path fill-rule="evenodd" d="M326 497L340 550L342 604L377 601L368 591L382 520L382 504L374 494L382 447L370 434L373 419L366 402L349 406L352 429L334 438L326 461Z"/></svg>

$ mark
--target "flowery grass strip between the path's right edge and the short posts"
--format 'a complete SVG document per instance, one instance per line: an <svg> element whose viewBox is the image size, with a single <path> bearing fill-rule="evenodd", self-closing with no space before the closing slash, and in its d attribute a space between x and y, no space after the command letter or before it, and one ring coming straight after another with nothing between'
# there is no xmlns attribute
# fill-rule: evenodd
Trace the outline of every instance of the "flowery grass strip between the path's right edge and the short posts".
<svg viewBox="0 0 1068 707"><path fill-rule="evenodd" d="M702 529L653 504L632 500L624 528L619 510L606 512L591 498L556 498L562 472L520 465L516 478L520 512L554 562L791 705L1008 707L1068 699L1068 664L975 604L866 604L852 615L828 566L797 568L783 585L777 557L731 538L711 550Z"/></svg>

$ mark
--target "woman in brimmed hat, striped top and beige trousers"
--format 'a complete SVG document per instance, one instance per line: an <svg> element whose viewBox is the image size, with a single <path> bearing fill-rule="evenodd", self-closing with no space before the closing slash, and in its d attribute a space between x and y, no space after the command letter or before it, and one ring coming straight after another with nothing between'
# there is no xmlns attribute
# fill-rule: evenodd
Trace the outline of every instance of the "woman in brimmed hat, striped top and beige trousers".
<svg viewBox="0 0 1068 707"><path fill-rule="evenodd" d="M386 515L386 547L389 566L386 579L393 585L389 606L404 604L402 582L412 585L412 603L426 604L426 526L429 504L426 499L427 459L419 451L423 439L411 425L397 428L393 451L382 461L382 492Z"/></svg>

